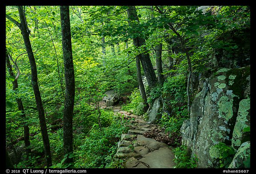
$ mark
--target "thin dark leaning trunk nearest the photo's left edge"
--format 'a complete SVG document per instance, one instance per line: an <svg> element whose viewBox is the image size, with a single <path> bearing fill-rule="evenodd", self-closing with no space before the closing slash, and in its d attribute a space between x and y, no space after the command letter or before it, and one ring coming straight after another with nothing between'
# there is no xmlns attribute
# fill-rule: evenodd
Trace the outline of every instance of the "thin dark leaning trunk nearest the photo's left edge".
<svg viewBox="0 0 256 174"><path fill-rule="evenodd" d="M11 66L11 63L10 63L10 60L9 60L9 57L11 57L8 53L8 50L5 49L5 58L6 58L6 66L8 68L8 72L10 74L10 76L13 76L15 77L14 73L13 73L13 70L12 70L12 66ZM14 62L15 63L15 62ZM16 65L17 67L17 65ZM17 67L18 69L18 67ZM18 72L20 72L19 70L17 70ZM14 81L12 81L12 85L13 85L13 88L12 90L17 90L18 89L18 75L15 77ZM23 107L23 104L22 104L22 100L20 98L16 98L16 102L18 104L18 109L19 111L21 111L22 115L21 117L24 119L24 120L27 120L26 119L26 115L25 115L25 112L24 112L24 107ZM31 153L31 149L29 148L30 146L30 141L29 141L29 128L28 128L28 125L26 125L26 122L23 123L25 124L23 126L24 128L24 144L25 144L25 151L26 151L26 155L27 155L27 160L28 160L28 155Z"/></svg>

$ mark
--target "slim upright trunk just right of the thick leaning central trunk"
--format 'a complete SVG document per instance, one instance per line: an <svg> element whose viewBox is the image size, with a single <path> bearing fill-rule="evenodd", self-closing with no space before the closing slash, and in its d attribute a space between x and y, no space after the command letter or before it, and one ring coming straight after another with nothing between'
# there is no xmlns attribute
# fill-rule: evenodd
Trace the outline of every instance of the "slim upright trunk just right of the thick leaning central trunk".
<svg viewBox="0 0 256 174"><path fill-rule="evenodd" d="M162 47L163 44L160 43L156 46L156 68L157 68L157 78L160 86L164 84L164 75L163 75L163 67L162 67Z"/></svg>

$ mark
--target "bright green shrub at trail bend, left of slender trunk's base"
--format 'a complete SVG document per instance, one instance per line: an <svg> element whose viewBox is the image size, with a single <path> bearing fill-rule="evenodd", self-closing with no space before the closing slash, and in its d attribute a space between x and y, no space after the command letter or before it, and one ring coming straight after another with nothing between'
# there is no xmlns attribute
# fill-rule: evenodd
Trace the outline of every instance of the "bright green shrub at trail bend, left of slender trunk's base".
<svg viewBox="0 0 256 174"><path fill-rule="evenodd" d="M144 104L143 99L140 95L140 90L138 88L135 88L132 91L132 94L128 97L130 102L128 104L124 105L122 109L126 111L132 111L135 115L143 115L144 114Z"/></svg>

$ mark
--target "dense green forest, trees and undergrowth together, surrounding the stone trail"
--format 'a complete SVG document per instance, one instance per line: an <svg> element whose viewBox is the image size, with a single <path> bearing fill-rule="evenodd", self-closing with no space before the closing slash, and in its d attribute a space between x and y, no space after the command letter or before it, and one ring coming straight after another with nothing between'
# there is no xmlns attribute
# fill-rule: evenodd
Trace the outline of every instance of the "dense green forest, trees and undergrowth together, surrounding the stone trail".
<svg viewBox="0 0 256 174"><path fill-rule="evenodd" d="M159 124L180 147L200 83L220 67L248 65L249 6L6 6L6 154L18 168L122 167L113 156L127 120L101 108L109 90L145 118L162 96Z"/></svg>

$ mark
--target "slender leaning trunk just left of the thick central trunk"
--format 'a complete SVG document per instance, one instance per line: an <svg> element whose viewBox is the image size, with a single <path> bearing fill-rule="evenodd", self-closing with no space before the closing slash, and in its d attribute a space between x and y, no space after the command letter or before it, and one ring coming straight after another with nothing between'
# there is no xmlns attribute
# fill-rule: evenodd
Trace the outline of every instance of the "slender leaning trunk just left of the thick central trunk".
<svg viewBox="0 0 256 174"><path fill-rule="evenodd" d="M136 57L136 67L137 67L137 79L138 79L138 83L139 83L139 87L140 87L140 95L144 101L143 102L144 103L144 112L147 112L149 105L148 105L147 95L146 95L146 91L145 91L144 84L143 84L142 77L141 77L140 58L139 57Z"/></svg>

